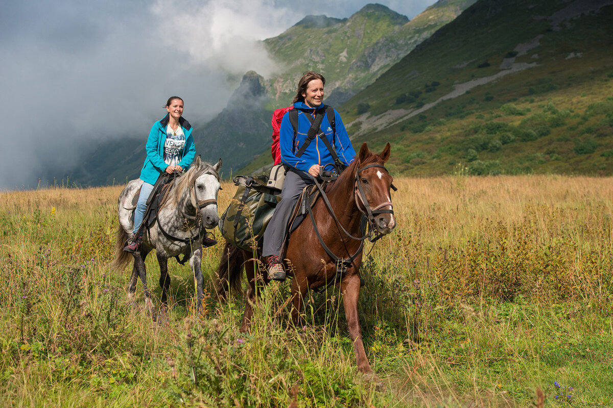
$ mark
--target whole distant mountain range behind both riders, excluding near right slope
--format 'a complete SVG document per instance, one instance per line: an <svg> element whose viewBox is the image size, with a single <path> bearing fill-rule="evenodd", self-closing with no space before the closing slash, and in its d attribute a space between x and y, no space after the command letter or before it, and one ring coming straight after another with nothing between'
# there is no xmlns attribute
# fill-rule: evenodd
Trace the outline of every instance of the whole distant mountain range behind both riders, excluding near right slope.
<svg viewBox="0 0 613 408"><path fill-rule="evenodd" d="M326 103L340 106L474 1L441 0L411 21L378 4L369 4L342 20L305 17L278 37L264 41L270 56L278 61L277 75L265 79L247 73L223 112L207 124L192 123L197 153L207 161L223 158L226 176L258 156L268 164L272 111L291 103L303 71L321 71L328 80ZM251 88L256 83L257 89ZM139 149L128 152L117 149L115 142L102 143L70 172L69 179L78 185L101 185L138 177L140 169L134 163L145 157L144 143L131 138L126 136L126 143Z"/></svg>

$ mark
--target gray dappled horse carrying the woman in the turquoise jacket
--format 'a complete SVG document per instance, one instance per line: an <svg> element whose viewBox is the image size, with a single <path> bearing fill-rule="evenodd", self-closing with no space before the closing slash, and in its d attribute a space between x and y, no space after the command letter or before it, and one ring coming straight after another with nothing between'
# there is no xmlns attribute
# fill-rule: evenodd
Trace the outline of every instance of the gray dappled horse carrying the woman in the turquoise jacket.
<svg viewBox="0 0 613 408"><path fill-rule="evenodd" d="M150 292L147 287L147 271L145 270L145 258L151 250L156 250L159 262L159 285L162 287L160 314L157 316L159 323L167 321L167 292L170 287L168 275L168 258L183 254L189 258L189 265L194 272L197 284L198 309L202 306L204 298L202 292L202 239L205 228L214 228L218 221L217 193L219 184L219 169L221 159L215 166L196 157L191 168L173 181L172 187L166 193L164 201L158 210L158 218L149 229L143 228L143 242L140 252L134 254L123 251L124 245L133 229L132 210L138 199L138 191L143 181L132 180L121 191L117 202L120 226L117 231L115 244L115 260L112 267L123 269L134 257L132 276L128 282L128 301L134 302L137 277L143 284L145 295L145 308L154 318L155 306L151 302ZM161 228L160 228L161 225ZM178 259L178 258L177 258Z"/></svg>

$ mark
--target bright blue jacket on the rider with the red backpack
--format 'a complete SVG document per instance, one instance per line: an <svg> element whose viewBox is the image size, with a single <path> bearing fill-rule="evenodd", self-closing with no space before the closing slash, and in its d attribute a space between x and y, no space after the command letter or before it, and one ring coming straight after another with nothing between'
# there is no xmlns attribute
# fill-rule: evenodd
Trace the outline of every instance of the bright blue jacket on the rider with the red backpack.
<svg viewBox="0 0 613 408"><path fill-rule="evenodd" d="M314 118L316 111L323 109L324 104L319 105L318 108L310 108L303 102L294 103L294 109L298 111L298 131L294 140L294 128L289 122L289 112L283 116L281 120L281 129L279 133L279 141L281 147L281 161L288 166L295 169L308 172L308 169L313 165L325 166L333 163L334 160L329 150L321 139L315 138L311 141L311 144L307 147L307 150L300 157L296 157L296 153L307 139L308 130L311 128L311 121L307 115ZM334 111L334 122L336 128L336 135L332 135L332 127L328 121L327 114L319 127L319 132L324 132L326 138L330 141L330 144L337 150L338 158L345 165L349 165L351 161L356 157L356 151L351 146L349 136L343 120L337 111Z"/></svg>

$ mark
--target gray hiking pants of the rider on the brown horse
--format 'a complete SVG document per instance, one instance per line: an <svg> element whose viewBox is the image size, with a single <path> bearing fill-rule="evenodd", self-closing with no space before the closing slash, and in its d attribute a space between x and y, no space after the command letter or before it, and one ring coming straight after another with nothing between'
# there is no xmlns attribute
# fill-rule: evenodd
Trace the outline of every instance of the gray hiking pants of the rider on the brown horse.
<svg viewBox="0 0 613 408"><path fill-rule="evenodd" d="M313 177L307 172L296 169L287 171L281 191L281 201L276 205L275 212L264 231L262 256L276 255L281 258L280 252L287 231L287 222L292 216L302 189L308 184L314 184L314 182Z"/></svg>

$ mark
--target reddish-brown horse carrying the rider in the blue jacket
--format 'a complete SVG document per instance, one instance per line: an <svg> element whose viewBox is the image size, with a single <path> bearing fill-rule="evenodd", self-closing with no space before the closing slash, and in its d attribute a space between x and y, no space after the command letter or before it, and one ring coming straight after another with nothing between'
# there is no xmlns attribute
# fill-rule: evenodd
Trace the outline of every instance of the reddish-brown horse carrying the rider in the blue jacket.
<svg viewBox="0 0 613 408"><path fill-rule="evenodd" d="M363 373L370 373L372 369L364 351L362 328L357 313L362 248L364 239L368 238L361 237L360 221L362 215L367 215L370 230L376 231L377 236L389 234L395 226L390 198L390 187L394 187L392 177L384 167L389 154L389 143L381 154L372 153L364 143L356 160L352 161L327 189L329 204L324 199L318 199L310 214L313 222L304 220L292 232L286 253L286 260L289 260L288 264L291 265L286 267L286 270L289 276L294 276L291 313L294 324L300 321L300 311L307 291L330 282L338 283L337 275L340 275L349 335L354 343L357 366ZM241 270L243 264L245 265L249 284L243 324L240 328L242 332L249 329L253 306L256 305L255 262L245 262L252 256L253 253L226 243L217 270L218 294L224 299L229 284L237 289L240 287ZM259 280L267 284L264 268L258 272Z"/></svg>

